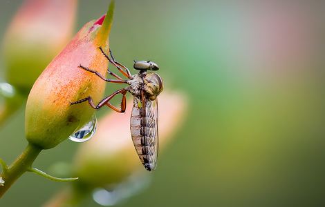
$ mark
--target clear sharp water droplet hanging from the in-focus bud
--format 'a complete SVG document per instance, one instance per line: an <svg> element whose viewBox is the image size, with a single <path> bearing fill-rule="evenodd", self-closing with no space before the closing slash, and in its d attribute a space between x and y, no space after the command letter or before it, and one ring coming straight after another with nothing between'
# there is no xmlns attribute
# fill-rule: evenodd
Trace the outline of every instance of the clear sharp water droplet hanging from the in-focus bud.
<svg viewBox="0 0 325 207"><path fill-rule="evenodd" d="M72 135L70 135L69 139L75 142L85 142L91 139L95 134L97 129L97 118L96 115L93 115L91 121L82 126L81 128L77 128Z"/></svg>

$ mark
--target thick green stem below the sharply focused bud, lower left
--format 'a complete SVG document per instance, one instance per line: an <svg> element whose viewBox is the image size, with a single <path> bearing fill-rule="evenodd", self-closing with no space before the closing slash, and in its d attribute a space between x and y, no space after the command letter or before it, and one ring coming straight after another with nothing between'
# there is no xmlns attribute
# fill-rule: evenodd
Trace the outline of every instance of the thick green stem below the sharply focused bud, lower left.
<svg viewBox="0 0 325 207"><path fill-rule="evenodd" d="M24 172L28 171L32 163L35 161L36 157L41 152L41 148L34 146L32 144L28 144L24 152L15 160L15 162L9 166L7 171L2 172L3 181L5 181L3 186L0 186L0 198L4 193L15 183L15 181L24 174Z"/></svg>

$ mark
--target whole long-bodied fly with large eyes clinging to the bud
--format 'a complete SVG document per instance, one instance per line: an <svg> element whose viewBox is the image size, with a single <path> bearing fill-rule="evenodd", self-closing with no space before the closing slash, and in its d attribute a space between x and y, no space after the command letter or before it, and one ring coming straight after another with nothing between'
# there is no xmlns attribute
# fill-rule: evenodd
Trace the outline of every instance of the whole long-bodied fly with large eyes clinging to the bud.
<svg viewBox="0 0 325 207"><path fill-rule="evenodd" d="M115 60L111 50L111 57L108 57L101 47L99 49L106 59L108 59L113 66L118 68L124 77L127 77L127 80L111 72L109 68L107 72L116 79L106 79L106 77L103 77L99 72L81 65L79 68L94 73L104 81L111 83L127 83L129 86L113 92L113 94L102 99L97 105L93 103L91 97L75 101L71 103L71 105L88 101L90 106L95 109L102 108L102 106L109 106L109 108L116 112L124 112L127 107L126 94L130 92L133 95L133 109L130 121L132 141L143 166L149 171L154 170L158 157L157 97L163 90L163 80L155 72L147 72L147 70L159 70L159 67L152 61L134 61L133 68L139 70L139 72L136 75L131 75L127 67ZM118 94L122 94L120 108L113 106L109 102Z"/></svg>

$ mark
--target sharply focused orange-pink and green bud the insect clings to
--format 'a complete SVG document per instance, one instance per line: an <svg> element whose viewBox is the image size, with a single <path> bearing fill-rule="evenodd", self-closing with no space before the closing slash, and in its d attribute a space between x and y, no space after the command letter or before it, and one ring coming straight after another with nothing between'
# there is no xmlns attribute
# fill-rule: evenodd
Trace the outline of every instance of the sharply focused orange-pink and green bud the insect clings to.
<svg viewBox="0 0 325 207"><path fill-rule="evenodd" d="M32 86L26 105L26 138L30 144L53 148L91 119L94 110L89 103L71 106L71 102L89 96L95 102L102 98L106 82L79 66L106 74L108 61L98 48L109 51L112 15L113 3L106 17L86 23Z"/></svg>

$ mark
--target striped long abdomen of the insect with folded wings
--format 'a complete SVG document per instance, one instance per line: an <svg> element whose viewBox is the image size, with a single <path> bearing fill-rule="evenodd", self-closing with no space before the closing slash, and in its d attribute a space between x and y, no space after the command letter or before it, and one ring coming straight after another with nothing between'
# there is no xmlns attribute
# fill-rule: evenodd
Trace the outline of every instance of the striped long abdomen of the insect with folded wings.
<svg viewBox="0 0 325 207"><path fill-rule="evenodd" d="M136 152L145 168L156 168L158 156L158 103L134 97L131 114L131 136Z"/></svg>

